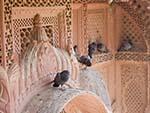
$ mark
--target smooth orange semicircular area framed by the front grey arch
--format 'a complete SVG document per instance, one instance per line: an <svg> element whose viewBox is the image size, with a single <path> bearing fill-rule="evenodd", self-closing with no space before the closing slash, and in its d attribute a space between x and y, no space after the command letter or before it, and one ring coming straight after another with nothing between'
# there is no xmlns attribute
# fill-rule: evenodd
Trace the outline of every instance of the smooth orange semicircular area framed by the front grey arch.
<svg viewBox="0 0 150 113"><path fill-rule="evenodd" d="M91 94L83 94L72 99L64 108L64 113L108 113L102 102ZM63 113L62 112L62 113Z"/></svg>

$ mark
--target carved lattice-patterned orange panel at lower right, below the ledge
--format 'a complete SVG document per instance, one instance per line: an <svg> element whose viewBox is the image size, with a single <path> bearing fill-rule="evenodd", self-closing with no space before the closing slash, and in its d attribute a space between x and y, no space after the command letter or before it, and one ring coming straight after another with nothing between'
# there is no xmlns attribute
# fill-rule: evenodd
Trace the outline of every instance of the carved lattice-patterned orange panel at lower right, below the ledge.
<svg viewBox="0 0 150 113"><path fill-rule="evenodd" d="M144 113L147 97L147 65L121 66L122 113Z"/></svg>

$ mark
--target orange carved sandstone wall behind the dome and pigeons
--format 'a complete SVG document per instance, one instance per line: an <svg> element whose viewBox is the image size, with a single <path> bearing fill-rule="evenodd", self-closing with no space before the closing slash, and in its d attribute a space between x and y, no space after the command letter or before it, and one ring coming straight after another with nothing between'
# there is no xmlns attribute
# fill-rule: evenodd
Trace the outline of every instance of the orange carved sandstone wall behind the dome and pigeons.
<svg viewBox="0 0 150 113"><path fill-rule="evenodd" d="M51 38L52 44L65 49L68 47L68 38L71 36L71 26L69 23L71 15L68 15L68 17L64 15L64 18L63 14L66 13L65 9L60 13L61 16L51 16L52 13L50 12L42 13L42 11L45 12L47 10L45 6L49 5L48 3L43 5L42 3L35 4L35 2L27 4L17 3L16 1L11 4L7 0L3 2L4 1L0 1L0 5L4 7L4 11L7 13L4 13L4 20L0 21L5 23L4 26L3 23L0 23L0 25L2 25L0 29L0 38L2 37L0 40L0 49L3 50L3 52L2 50L0 51L0 54L2 54L0 55L0 57L2 57L0 58L1 65L9 67L12 61L16 61L17 63L20 61L22 57L20 58L19 56L21 56L26 49L28 34L32 28L32 18L37 11L44 16L42 21L44 22L44 28L49 38L51 38L49 31L52 29L54 32L53 35L55 38ZM30 8L19 8L26 5ZM36 8L36 5L43 7L43 9L39 7ZM53 5L57 6L59 3L50 3L50 6ZM79 45L80 53L86 53L86 47L90 39L98 38L97 29L99 29L98 33L102 36L103 42L110 50L108 54L95 55L96 59L94 63L97 64L95 64L93 68L103 73L104 80L109 88L114 112L119 113L144 113L146 107L150 104L149 31L146 31L146 36L143 35L142 22L137 21L141 18L139 18L139 15L132 17L130 14L130 11L132 12L134 6L136 8L137 5L138 4L132 4L133 9L128 9L129 6L126 5L124 5L126 7L122 6L122 8L114 8L113 6L110 8L107 4L80 4L72 6L72 40L73 44ZM67 5L67 7L70 8L70 5ZM13 10L11 10L11 8ZM2 8L0 11L1 10ZM30 10L30 13L28 10ZM97 10L99 11L98 13ZM140 9L135 9L135 12L136 10L140 11ZM70 9L68 12L70 12ZM134 14L134 12L132 13ZM23 16L24 14L26 16ZM3 15L3 11L1 11L0 15ZM136 19L136 17L139 19ZM67 20L67 18L69 20ZM99 19L101 21L97 23ZM63 24L64 21L66 24ZM59 24L57 22L59 22ZM147 20L144 22L147 22ZM131 52L116 53L122 37L126 34L134 36L132 39L136 44L136 48ZM89 37L90 35L93 37ZM3 43L4 40L6 41L5 44ZM134 78L135 80L133 80ZM12 81L11 85L13 86L13 83L16 82L17 79L14 81L12 79L13 78L10 77L10 81ZM18 87L22 88L23 86ZM13 86L12 88L15 89L16 87ZM137 92L137 95L132 92ZM18 90L12 93L17 97ZM8 99L6 92L4 95ZM133 101L131 101L132 99ZM140 100L139 103L142 105L137 107L137 101L135 100Z"/></svg>

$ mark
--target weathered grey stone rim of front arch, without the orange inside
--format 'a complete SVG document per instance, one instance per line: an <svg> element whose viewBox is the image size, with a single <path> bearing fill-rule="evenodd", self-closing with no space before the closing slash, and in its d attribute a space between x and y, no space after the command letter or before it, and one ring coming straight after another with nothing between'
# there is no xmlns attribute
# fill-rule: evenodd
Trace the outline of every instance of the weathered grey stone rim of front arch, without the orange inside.
<svg viewBox="0 0 150 113"><path fill-rule="evenodd" d="M77 96L86 94L93 95L93 98L98 98L90 91L69 88L62 91L58 88L49 87L34 96L22 113L60 113L69 101ZM101 104L103 105L102 101ZM103 108L105 108L104 105ZM107 111L107 108L105 110Z"/></svg>

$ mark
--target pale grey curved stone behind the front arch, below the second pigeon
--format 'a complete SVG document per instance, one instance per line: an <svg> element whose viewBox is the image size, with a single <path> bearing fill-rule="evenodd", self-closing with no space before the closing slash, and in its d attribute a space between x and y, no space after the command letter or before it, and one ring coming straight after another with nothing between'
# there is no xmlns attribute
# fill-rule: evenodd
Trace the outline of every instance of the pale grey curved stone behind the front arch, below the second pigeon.
<svg viewBox="0 0 150 113"><path fill-rule="evenodd" d="M90 68L81 70L79 75L79 84L81 88L89 90L99 96L107 108L111 111L111 100L107 86L99 72Z"/></svg>

